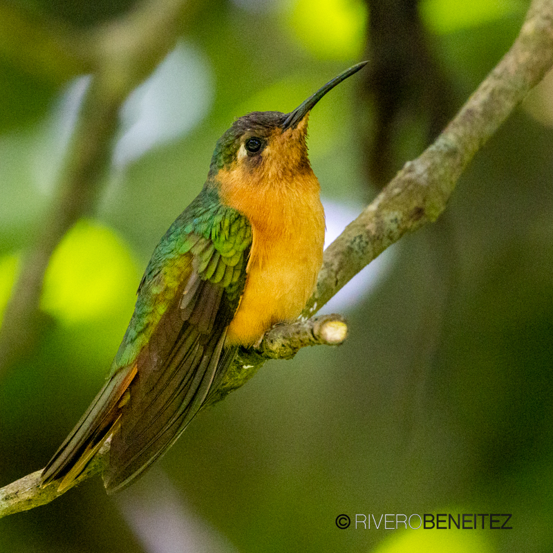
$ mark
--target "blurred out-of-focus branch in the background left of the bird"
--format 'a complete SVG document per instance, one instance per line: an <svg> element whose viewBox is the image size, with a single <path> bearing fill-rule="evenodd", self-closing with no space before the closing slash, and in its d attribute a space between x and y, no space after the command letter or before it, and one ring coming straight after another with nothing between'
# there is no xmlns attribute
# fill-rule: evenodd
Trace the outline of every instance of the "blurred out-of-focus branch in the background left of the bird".
<svg viewBox="0 0 553 553"><path fill-rule="evenodd" d="M36 243L26 254L21 276L0 328L0 373L35 339L39 300L48 261L68 229L91 214L102 176L111 162L118 112L127 95L174 46L184 0L148 0L124 19L100 26L74 41L73 58L92 68L93 80L62 180ZM38 32L35 34L39 34ZM68 56L69 57L69 56Z"/></svg>

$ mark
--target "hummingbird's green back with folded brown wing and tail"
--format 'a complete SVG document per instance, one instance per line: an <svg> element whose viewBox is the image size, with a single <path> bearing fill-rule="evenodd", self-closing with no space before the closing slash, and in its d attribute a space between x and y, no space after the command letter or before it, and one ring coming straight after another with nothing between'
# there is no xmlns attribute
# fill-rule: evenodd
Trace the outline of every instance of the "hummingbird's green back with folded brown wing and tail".
<svg viewBox="0 0 553 553"><path fill-rule="evenodd" d="M66 487L110 435L108 491L128 485L174 443L234 359L227 327L245 284L247 220L205 187L147 267L109 379L43 471Z"/></svg>

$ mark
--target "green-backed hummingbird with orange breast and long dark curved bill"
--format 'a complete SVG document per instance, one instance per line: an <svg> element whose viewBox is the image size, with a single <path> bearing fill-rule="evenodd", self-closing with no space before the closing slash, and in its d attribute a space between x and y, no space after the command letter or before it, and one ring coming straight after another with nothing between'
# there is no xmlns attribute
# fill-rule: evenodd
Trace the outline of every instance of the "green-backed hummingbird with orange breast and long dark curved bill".
<svg viewBox="0 0 553 553"><path fill-rule="evenodd" d="M104 485L123 489L209 402L240 346L297 319L325 233L309 114L366 63L290 113L243 115L217 141L203 189L153 252L106 383L42 471L43 487L71 486L111 438Z"/></svg>

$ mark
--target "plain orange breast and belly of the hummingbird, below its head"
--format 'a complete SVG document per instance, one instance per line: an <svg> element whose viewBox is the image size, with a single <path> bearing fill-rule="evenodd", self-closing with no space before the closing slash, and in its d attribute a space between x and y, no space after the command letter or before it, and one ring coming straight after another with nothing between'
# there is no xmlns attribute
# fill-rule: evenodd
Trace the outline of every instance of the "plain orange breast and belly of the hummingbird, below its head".
<svg viewBox="0 0 553 553"><path fill-rule="evenodd" d="M227 344L245 346L275 323L297 319L317 283L325 227L319 181L312 171L284 188L261 185L253 190L251 182L247 190L221 189L225 202L252 225L247 280L227 332Z"/></svg>

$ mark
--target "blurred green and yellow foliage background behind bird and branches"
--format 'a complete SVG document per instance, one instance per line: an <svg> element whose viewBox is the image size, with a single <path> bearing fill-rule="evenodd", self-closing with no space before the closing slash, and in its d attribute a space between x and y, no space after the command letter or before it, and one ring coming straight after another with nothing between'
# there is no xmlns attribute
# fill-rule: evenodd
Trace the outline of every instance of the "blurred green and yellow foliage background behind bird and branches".
<svg viewBox="0 0 553 553"><path fill-rule="evenodd" d="M50 259L37 332L0 373L0 485L43 467L102 386L153 247L236 116L290 111L371 60L310 118L335 235L459 109L527 7L190 0L176 46L119 112L93 213ZM39 30L84 35L131 8L0 4L0 313L24 252L48 232L92 78L48 55ZM552 125L550 76L478 153L440 220L326 306L348 317L344 346L265 364L121 494L93 478L3 518L0 552L551 551ZM437 512L511 513L513 529L335 525L342 513Z"/></svg>

